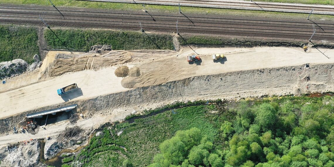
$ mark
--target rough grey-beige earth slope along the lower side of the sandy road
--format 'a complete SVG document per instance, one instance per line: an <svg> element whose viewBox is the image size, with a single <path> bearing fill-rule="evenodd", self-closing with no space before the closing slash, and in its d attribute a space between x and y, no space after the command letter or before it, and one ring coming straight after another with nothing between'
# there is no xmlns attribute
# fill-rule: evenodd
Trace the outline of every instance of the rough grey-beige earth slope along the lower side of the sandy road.
<svg viewBox="0 0 334 167"><path fill-rule="evenodd" d="M28 113L78 104L79 112L95 114L112 112L120 107L153 105L161 102L199 99L238 99L263 95L304 94L334 91L334 64L305 65L243 70L213 75L194 76L160 85L140 87L120 93L43 107L0 120L0 133L12 130ZM117 116L124 119L127 114ZM101 122L103 124L103 122Z"/></svg>

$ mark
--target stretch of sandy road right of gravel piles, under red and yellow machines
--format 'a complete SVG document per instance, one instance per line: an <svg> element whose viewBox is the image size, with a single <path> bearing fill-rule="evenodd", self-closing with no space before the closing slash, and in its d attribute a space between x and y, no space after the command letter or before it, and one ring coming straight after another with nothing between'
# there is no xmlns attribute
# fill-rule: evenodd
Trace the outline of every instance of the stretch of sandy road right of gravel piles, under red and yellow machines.
<svg viewBox="0 0 334 167"><path fill-rule="evenodd" d="M136 78L135 88L157 85L167 81L181 80L188 77L218 74L238 70L263 69L292 66L305 63L333 63L334 49L312 48L304 52L301 48L255 47L255 48L184 48L179 56L150 63L139 64L142 75ZM185 56L200 55L201 61L189 64ZM211 55L223 53L226 58L213 61Z"/></svg>

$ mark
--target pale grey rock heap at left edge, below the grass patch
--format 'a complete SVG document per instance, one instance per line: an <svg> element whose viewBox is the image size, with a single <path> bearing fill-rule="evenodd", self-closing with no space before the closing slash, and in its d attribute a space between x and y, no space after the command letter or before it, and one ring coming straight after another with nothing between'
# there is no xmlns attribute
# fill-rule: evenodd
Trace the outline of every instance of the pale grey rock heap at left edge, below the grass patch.
<svg viewBox="0 0 334 167"><path fill-rule="evenodd" d="M27 70L29 64L22 59L0 62L0 79L13 77Z"/></svg>

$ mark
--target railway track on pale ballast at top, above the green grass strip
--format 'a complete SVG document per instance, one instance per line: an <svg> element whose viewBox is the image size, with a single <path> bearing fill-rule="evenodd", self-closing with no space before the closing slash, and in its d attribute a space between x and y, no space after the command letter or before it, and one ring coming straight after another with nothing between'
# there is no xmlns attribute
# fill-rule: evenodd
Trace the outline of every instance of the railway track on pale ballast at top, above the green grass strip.
<svg viewBox="0 0 334 167"><path fill-rule="evenodd" d="M100 1L100 2L123 2L136 4L155 4L155 5L173 5L178 6L179 0L83 0L83 1ZM331 12L334 14L334 6L326 5L308 5L308 4L293 4L293 3L267 3L255 1L227 1L227 0L180 0L180 6L192 7L207 7L207 8L224 8L233 9L247 8L248 10L264 10L264 11L278 11L296 12L296 13L310 13L313 9L315 12ZM321 13L318 13L321 14Z"/></svg>

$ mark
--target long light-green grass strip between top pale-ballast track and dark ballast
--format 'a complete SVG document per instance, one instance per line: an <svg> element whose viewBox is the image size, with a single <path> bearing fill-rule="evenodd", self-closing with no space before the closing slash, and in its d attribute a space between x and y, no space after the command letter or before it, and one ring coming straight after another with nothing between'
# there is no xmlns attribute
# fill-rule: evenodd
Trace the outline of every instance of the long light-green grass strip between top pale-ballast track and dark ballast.
<svg viewBox="0 0 334 167"><path fill-rule="evenodd" d="M264 0L270 1L270 0ZM291 2L293 0L275 0L282 2ZM298 2L312 4L331 4L334 5L332 0L298 0ZM0 0L0 4L25 4L25 5L45 5L51 6L48 1L44 0ZM90 1L68 1L68 0L53 0L52 3L56 6L64 7L85 7L96 9L116 9L116 10L130 10L140 11L143 10L141 4L128 4L128 3L114 3L114 2L90 2ZM146 9L151 12L168 12L177 14L179 12L178 6L162 6L162 5L146 5ZM196 7L182 7L184 14L222 14L222 15L241 15L241 16L261 16L261 17L275 17L275 18L307 18L308 14L298 13L282 13L282 12L264 12L264 11L250 11L250 10L232 10L232 9L212 9L212 8L196 8ZM332 19L334 16L330 15L316 15L311 16L312 19Z"/></svg>

